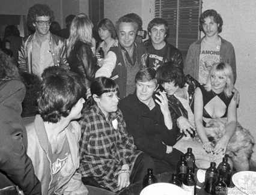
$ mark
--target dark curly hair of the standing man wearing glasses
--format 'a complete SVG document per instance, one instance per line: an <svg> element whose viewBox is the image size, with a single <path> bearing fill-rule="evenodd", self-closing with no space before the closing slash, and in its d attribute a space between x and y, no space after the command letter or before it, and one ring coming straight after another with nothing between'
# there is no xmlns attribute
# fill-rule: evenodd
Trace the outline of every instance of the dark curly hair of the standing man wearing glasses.
<svg viewBox="0 0 256 195"><path fill-rule="evenodd" d="M35 23L35 20L38 16L49 16L50 21L52 22L54 20L53 11L49 8L46 4L35 4L28 10L28 17L26 18L28 26L33 31L35 30L35 27L33 26L33 23Z"/></svg>

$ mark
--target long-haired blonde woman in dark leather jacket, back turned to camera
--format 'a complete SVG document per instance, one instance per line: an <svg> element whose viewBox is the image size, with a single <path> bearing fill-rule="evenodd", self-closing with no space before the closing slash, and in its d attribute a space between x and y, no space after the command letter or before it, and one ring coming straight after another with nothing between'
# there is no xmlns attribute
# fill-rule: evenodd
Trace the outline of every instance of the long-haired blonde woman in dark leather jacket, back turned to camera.
<svg viewBox="0 0 256 195"><path fill-rule="evenodd" d="M90 91L94 79L97 58L91 50L93 44L93 23L86 14L78 14L70 26L67 57L70 70L78 73L85 80L85 86Z"/></svg>

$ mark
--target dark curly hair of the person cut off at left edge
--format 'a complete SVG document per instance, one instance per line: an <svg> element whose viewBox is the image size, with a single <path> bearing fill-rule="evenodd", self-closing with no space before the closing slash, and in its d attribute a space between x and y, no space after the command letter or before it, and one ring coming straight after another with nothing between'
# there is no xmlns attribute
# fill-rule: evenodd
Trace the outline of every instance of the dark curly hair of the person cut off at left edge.
<svg viewBox="0 0 256 195"><path fill-rule="evenodd" d="M0 49L0 82L2 80L19 79L20 74L13 60Z"/></svg>

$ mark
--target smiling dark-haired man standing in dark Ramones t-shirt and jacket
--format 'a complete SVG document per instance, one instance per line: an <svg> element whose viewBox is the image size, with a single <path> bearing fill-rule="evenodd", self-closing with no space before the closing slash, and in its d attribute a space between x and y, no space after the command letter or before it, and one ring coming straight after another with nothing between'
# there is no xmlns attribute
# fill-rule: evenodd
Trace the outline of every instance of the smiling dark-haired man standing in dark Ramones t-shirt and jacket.
<svg viewBox="0 0 256 195"><path fill-rule="evenodd" d="M168 22L156 17L148 23L150 39L143 42L148 51L149 67L157 68L164 62L174 62L183 71L183 59L180 50L169 44L165 38L168 36Z"/></svg>

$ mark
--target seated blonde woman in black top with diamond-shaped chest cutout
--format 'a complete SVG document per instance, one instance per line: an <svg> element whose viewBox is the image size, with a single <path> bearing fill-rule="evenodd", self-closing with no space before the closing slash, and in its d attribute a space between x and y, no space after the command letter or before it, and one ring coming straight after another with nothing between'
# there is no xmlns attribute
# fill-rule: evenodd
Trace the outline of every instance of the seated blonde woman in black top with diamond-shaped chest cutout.
<svg viewBox="0 0 256 195"><path fill-rule="evenodd" d="M253 140L248 131L243 130L242 134L239 134L239 127L237 125L237 104L234 100L232 92L234 88L234 76L231 66L227 63L220 62L213 65L207 77L206 85L200 86L195 90L195 125L197 127L198 136L201 139L202 147L210 154L213 155L225 155L228 149L228 143L231 141L233 145L239 145L243 139L246 139L245 145L251 145ZM219 139L216 140L216 145L213 146L209 140L210 132L209 125L206 124L219 124L220 118L227 118L227 124L224 126L224 131L218 131ZM211 119L216 119L211 121ZM221 128L221 126L219 126ZM236 130L238 128L238 130ZM214 135L214 134L213 134ZM233 136L234 135L234 136ZM239 139L235 139L239 136ZM243 137L244 136L244 137ZM212 137L212 136L210 136ZM214 138L218 137L214 136ZM231 144L231 143L230 143ZM231 145L229 145L231 148ZM240 149L242 146L240 146ZM246 155L241 154L239 150L233 151L234 156L231 156L229 163L234 164L236 170L249 170L249 157L251 156L251 148L245 150ZM248 154L247 154L248 153Z"/></svg>

